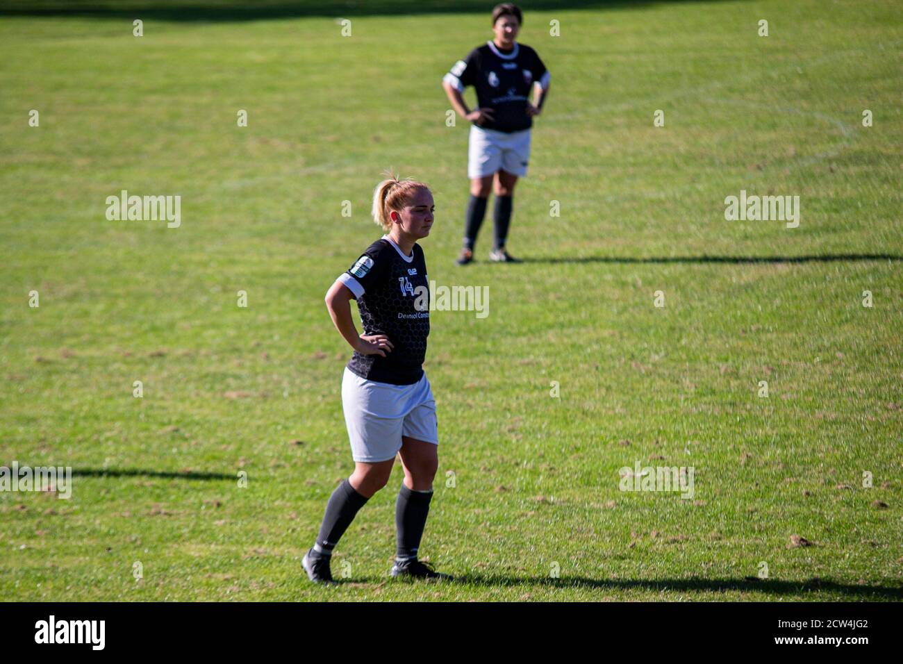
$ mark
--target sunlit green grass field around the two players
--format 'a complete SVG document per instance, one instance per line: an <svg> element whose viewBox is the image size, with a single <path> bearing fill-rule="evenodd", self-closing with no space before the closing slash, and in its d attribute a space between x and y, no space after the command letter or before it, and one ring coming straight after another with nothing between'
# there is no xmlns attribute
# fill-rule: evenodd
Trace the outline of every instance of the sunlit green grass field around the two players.
<svg viewBox="0 0 903 664"><path fill-rule="evenodd" d="M492 4L361 5L0 11L0 465L74 475L0 492L0 597L903 598L900 5L525 5L552 72L528 260L489 264L490 203L467 268L440 79ZM432 185L430 278L489 285L486 318L433 313L425 364L421 554L462 581L388 580L396 466L323 589L300 558L352 466L323 295L390 166ZM123 189L181 195L182 225L107 220ZM799 227L725 220L740 190L798 195ZM694 499L620 491L638 461L692 465Z"/></svg>

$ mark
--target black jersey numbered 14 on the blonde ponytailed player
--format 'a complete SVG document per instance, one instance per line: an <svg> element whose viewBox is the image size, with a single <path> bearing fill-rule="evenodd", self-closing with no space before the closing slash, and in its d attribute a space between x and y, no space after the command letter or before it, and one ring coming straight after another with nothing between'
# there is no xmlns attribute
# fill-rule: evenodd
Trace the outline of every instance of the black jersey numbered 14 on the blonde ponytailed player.
<svg viewBox="0 0 903 664"><path fill-rule="evenodd" d="M385 334L395 348L381 355L354 351L348 368L362 379L411 385L424 375L430 333L430 292L424 250L410 257L384 235L339 280L358 300L364 334Z"/></svg>

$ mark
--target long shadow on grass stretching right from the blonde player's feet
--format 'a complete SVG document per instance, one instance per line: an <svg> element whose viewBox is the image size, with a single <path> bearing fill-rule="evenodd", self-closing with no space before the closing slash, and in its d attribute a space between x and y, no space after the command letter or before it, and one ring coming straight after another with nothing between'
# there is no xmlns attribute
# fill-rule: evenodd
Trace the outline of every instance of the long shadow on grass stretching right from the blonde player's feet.
<svg viewBox="0 0 903 664"><path fill-rule="evenodd" d="M343 583L385 583L385 577L355 579ZM411 581L397 583L415 583ZM421 582L422 583L422 582ZM848 599L860 600L901 600L903 599L903 586L891 587L888 585L845 585L833 581L827 581L813 577L805 581L779 581L777 579L759 579L755 576L747 576L740 579L591 579L585 576L567 576L563 578L550 578L548 576L498 576L498 575L463 575L456 576L452 582L442 582L442 585L478 585L484 587L505 586L538 586L544 588L583 588L599 591L624 591L624 590L652 590L656 593L672 592L713 592L723 593L737 591L740 593L767 593L774 595L798 595L803 593L837 593L845 595Z"/></svg>

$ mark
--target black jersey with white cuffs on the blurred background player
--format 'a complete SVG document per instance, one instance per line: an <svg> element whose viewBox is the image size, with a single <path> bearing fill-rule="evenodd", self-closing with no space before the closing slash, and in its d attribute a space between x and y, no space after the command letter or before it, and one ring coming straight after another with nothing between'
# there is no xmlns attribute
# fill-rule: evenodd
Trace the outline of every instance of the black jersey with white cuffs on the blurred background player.
<svg viewBox="0 0 903 664"><path fill-rule="evenodd" d="M536 51L515 42L514 49L505 53L493 42L470 51L465 60L455 62L442 79L463 92L472 85L477 89L479 108L492 108L494 120L486 120L484 129L515 132L533 126L533 118L526 115L526 103L534 82L543 89L549 85L549 72Z"/></svg>

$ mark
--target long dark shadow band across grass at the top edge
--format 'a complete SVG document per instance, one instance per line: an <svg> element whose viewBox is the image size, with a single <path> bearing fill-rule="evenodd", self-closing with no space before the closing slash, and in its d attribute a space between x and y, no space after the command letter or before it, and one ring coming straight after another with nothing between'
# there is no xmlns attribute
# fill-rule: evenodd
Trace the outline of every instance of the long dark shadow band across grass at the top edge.
<svg viewBox="0 0 903 664"><path fill-rule="evenodd" d="M535 0L526 10L642 8L687 0ZM712 0L709 0L710 2ZM495 2L486 0L5 0L0 15L85 18L136 18L143 21L253 21L303 16L350 17L404 14L485 14L487 23ZM487 28L489 30L489 28Z"/></svg>

